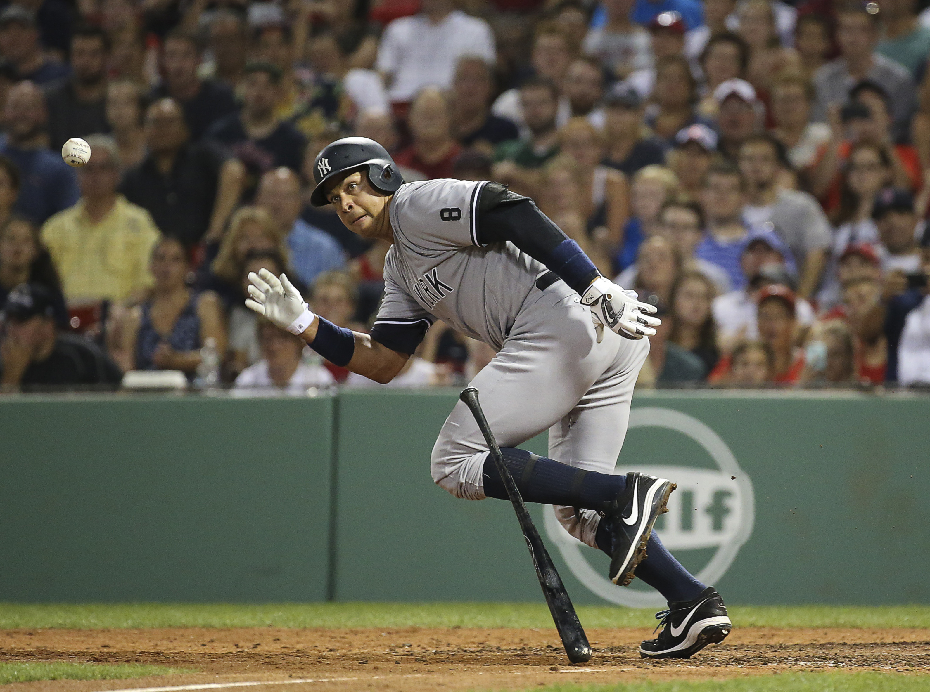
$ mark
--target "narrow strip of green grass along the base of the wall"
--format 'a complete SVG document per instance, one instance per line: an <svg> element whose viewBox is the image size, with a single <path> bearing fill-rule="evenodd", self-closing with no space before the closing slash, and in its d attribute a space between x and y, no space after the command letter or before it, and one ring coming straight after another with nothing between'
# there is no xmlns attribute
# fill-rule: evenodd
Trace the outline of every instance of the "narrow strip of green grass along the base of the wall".
<svg viewBox="0 0 930 692"><path fill-rule="evenodd" d="M740 627L925 627L930 606L734 606ZM585 627L653 627L654 612L582 606ZM552 627L549 609L532 603L86 604L0 603L0 630L150 627Z"/></svg>

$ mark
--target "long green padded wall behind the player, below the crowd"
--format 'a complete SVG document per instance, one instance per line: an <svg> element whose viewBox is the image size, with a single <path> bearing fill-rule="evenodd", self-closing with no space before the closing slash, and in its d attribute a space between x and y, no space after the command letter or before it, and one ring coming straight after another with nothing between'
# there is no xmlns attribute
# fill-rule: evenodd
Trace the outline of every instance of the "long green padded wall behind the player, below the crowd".
<svg viewBox="0 0 930 692"><path fill-rule="evenodd" d="M0 398L0 600L541 600L509 503L432 484L456 396ZM930 398L638 394L633 468L728 602L930 601ZM532 511L577 603L660 605Z"/></svg>

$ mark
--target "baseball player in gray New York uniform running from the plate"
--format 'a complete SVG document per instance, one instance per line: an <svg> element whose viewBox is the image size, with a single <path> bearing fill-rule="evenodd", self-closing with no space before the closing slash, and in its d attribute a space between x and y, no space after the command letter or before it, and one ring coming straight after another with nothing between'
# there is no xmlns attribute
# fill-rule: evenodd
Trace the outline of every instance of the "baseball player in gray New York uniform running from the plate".
<svg viewBox="0 0 930 692"><path fill-rule="evenodd" d="M614 475L636 375L656 333L656 308L602 277L528 198L493 182L405 184L377 142L346 137L313 166L311 203L347 228L392 243L384 299L370 334L315 316L286 275L249 274L246 306L324 358L390 382L433 321L498 350L472 380L523 498L555 506L565 530L610 556L609 577L658 589L664 629L644 658L689 658L732 625L720 595L652 534L675 486ZM549 430L549 455L517 449ZM432 450L432 478L456 497L508 500L477 424L458 402Z"/></svg>

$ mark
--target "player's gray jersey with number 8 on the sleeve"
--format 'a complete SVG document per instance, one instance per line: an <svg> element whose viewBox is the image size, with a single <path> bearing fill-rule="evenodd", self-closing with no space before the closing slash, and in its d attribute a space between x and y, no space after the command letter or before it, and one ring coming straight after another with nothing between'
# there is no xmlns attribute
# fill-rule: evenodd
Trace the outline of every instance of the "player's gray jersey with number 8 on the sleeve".
<svg viewBox="0 0 930 692"><path fill-rule="evenodd" d="M376 325L439 319L495 349L546 272L511 242L482 247L475 228L485 182L423 180L394 193Z"/></svg>

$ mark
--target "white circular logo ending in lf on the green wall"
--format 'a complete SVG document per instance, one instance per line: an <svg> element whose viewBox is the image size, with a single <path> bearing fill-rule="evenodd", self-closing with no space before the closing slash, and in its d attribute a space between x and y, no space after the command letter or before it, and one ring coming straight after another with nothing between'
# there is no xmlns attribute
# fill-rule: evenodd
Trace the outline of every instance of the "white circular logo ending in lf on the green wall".
<svg viewBox="0 0 930 692"><path fill-rule="evenodd" d="M669 478L678 484L671 495L669 512L655 529L671 551L716 548L711 561L697 573L697 579L713 584L733 564L740 546L749 539L755 519L755 496L750 477L739 467L724 440L706 424L692 416L644 407L630 411L629 428L664 427L690 437L711 455L719 470L692 466L636 466L650 476ZM623 471L626 473L626 470ZM736 478L733 478L736 477ZM698 510L697 512L695 510ZM543 513L546 533L558 547L568 568L591 592L611 603L629 607L665 607L656 592L635 591L617 586L591 567L584 551L591 550L568 535L551 507Z"/></svg>

